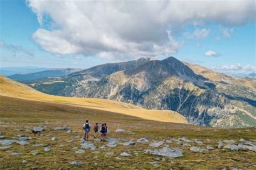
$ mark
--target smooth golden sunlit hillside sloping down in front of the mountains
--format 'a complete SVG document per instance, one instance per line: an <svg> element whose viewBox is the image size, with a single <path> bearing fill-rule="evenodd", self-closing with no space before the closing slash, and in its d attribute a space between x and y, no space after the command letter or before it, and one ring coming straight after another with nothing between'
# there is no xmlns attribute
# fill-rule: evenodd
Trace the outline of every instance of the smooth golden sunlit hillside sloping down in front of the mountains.
<svg viewBox="0 0 256 170"><path fill-rule="evenodd" d="M76 98L46 95L32 89L29 86L26 86L25 84L12 81L4 76L0 76L0 95L18 97L27 100L62 103L73 106L75 105L77 107L93 108L154 121L187 123L186 119L177 112L169 110L146 110L132 104L97 98Z"/></svg>

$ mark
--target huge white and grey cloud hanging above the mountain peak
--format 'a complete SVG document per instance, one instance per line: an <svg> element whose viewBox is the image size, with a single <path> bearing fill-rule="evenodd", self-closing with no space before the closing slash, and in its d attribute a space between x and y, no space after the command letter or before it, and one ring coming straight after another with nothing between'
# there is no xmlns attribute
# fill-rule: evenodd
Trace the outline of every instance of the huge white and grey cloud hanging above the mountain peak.
<svg viewBox="0 0 256 170"><path fill-rule="evenodd" d="M37 1L27 0L41 24L32 38L48 52L127 59L176 53L173 29L212 22L236 26L255 21L254 0L237 1ZM45 17L52 23L45 29ZM175 29L177 30L177 29ZM209 30L196 30L197 39Z"/></svg>

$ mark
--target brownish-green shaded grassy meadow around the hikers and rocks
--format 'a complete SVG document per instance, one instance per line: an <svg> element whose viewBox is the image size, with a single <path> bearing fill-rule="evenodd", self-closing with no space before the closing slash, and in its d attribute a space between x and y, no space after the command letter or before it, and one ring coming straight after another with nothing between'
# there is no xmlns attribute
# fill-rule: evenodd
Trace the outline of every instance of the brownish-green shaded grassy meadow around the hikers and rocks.
<svg viewBox="0 0 256 170"><path fill-rule="evenodd" d="M255 142L256 128L217 129L204 128L189 124L167 123L146 120L139 117L97 110L56 104L45 101L32 101L15 97L1 96L0 132L4 139L18 140L19 135L31 137L28 145L12 143L8 149L0 150L1 169L255 169L256 153L253 151L231 151L218 148L218 141L241 138ZM76 153L81 147L83 138L82 126L89 119L91 126L96 122L106 123L109 128L108 138L123 141L135 141L134 145L124 146L118 141L115 147L107 146L108 141L98 141L90 131L89 143L95 148L85 148L84 153ZM41 136L31 133L33 126L44 127ZM66 130L55 130L68 126ZM125 132L115 132L123 129ZM55 138L54 138L55 137ZM185 142L179 138L185 137ZM54 138L54 140L53 140ZM98 136L99 138L99 136ZM146 138L147 143L137 139ZM194 142L198 139L203 144ZM163 141L158 147L150 146L154 141ZM5 145L0 145L4 147ZM204 149L193 152L192 146ZM207 146L214 147L206 150ZM46 147L49 152L44 151ZM77 148L76 148L77 147ZM145 150L160 150L163 147L180 148L182 156L170 158L154 155ZM127 153L127 156L120 155ZM18 155L13 155L14 153ZM37 153L33 155L33 153ZM25 161L24 161L25 160ZM71 165L72 161L81 165Z"/></svg>

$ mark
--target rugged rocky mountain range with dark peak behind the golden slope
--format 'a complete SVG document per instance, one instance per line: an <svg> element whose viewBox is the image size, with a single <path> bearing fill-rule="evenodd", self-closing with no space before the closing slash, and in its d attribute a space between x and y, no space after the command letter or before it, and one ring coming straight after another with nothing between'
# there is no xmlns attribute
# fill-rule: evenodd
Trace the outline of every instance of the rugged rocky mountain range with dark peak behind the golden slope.
<svg viewBox="0 0 256 170"><path fill-rule="evenodd" d="M196 125L256 126L255 79L234 78L173 57L107 63L29 85L52 95L168 109Z"/></svg>

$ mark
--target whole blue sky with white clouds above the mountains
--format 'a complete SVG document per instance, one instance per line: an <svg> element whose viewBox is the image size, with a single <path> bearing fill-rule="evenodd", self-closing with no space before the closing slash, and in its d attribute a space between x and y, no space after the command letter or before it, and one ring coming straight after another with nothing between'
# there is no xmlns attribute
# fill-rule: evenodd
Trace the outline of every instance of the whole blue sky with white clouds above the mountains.
<svg viewBox="0 0 256 170"><path fill-rule="evenodd" d="M142 57L256 72L255 1L0 1L0 67L89 68Z"/></svg>

